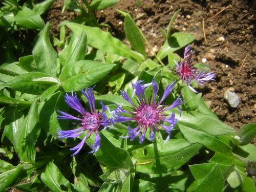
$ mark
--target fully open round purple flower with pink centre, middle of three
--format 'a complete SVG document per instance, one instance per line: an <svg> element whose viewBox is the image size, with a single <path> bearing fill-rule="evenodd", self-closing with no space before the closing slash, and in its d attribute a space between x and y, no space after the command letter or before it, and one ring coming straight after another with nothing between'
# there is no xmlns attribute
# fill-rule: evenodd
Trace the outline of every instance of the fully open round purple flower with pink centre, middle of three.
<svg viewBox="0 0 256 192"><path fill-rule="evenodd" d="M170 138L170 132L174 128L174 125L177 123L177 119L175 118L175 113L173 112L172 115L165 115L162 114L163 112L173 109L176 106L178 107L181 115L180 105L183 103L181 102L181 98L178 97L176 101L172 105L160 105L163 100L173 91L175 82L173 84L169 84L166 89L164 90L162 99L156 100L157 97L157 83L155 82L154 78L151 83L141 84L142 80L136 82L136 84L132 83L132 87L134 89L134 94L137 95L137 102L139 106L137 106L127 95L127 93L122 90L121 95L122 97L130 102L132 106L132 112L126 111L122 109L122 106L117 105L117 109L114 112L115 122L126 122L126 121L134 121L137 126L133 129L131 126L128 126L128 136L123 138L131 138L133 141L139 133L141 136L139 137L140 143L142 143L145 139L145 134L147 129L150 129L150 140L153 141L155 139L155 132L159 133L159 126L163 127L163 129L168 133L168 137L166 141ZM148 100L145 98L144 89L147 86L153 86L153 98L152 95ZM132 97L133 97L132 96ZM132 115L132 117L125 117L122 116L121 113L126 113ZM165 121L169 123L169 125L163 125L162 122ZM155 129L155 131L154 131Z"/></svg>

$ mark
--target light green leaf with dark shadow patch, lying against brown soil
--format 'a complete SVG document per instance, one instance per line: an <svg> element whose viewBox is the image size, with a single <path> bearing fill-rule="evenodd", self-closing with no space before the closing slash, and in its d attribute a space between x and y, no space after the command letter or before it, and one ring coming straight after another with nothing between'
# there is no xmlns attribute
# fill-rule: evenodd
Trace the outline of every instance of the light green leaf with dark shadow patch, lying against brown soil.
<svg viewBox="0 0 256 192"><path fill-rule="evenodd" d="M172 53L174 51L181 49L182 47L185 47L186 45L190 44L190 42L193 42L193 40L194 37L190 33L176 32L170 36L169 40L166 40L164 42L164 45L157 53L157 57L160 60L162 60L169 53ZM154 59L154 61L157 62L157 59Z"/></svg>

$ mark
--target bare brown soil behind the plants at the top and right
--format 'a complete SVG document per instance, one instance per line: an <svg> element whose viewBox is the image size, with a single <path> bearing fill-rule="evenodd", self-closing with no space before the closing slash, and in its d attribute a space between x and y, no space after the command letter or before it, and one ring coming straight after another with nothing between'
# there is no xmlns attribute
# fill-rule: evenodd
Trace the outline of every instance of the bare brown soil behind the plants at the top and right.
<svg viewBox="0 0 256 192"><path fill-rule="evenodd" d="M57 0L47 14L51 33L55 36L59 34L57 25L76 14L70 11L61 13L62 6L62 1ZM196 51L195 63L207 58L207 65L216 72L216 81L206 83L205 87L199 88L198 91L203 93L206 101L211 101L210 109L224 123L238 130L244 124L256 122L255 8L255 0L121 0L114 8L97 11L96 17L99 23L111 26L115 37L126 42L124 17L116 9L128 11L157 52L164 42L160 27L166 30L169 20L179 9L173 25L174 31L192 33L195 40L190 48ZM202 27L203 19L206 41ZM219 37L224 37L224 40L219 40ZM148 53L150 52L151 50L148 50ZM183 50L180 51L180 56L182 52ZM231 108L223 99L228 89L240 98L237 108Z"/></svg>

